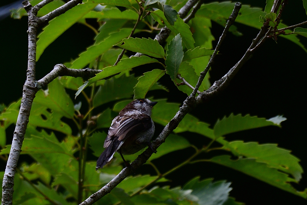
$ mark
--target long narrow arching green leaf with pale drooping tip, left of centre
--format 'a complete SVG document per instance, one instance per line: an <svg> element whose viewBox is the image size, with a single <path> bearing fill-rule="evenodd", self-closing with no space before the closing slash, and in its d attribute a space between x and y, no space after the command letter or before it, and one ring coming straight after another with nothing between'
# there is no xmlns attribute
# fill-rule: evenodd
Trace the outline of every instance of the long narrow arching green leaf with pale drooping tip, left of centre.
<svg viewBox="0 0 307 205"><path fill-rule="evenodd" d="M126 70L130 70L134 67L139 65L145 65L148 63L158 63L156 59L150 58L148 56L141 56L141 57L131 57L131 58L124 58L116 66L109 66L103 69L103 72L96 74L95 77L92 77L89 81L86 81L84 85L82 85L78 92L76 93L76 97L81 93L81 91L86 88L88 85L91 85L94 82L102 80L103 78L112 76L116 73L120 73Z"/></svg>

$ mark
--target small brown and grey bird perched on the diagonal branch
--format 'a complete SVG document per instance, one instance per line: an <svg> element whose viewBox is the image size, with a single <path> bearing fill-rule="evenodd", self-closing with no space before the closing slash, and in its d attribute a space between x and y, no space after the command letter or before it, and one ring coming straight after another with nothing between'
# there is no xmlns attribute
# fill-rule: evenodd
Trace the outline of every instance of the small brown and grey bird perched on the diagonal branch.
<svg viewBox="0 0 307 205"><path fill-rule="evenodd" d="M151 110L158 102L148 99L137 99L123 108L116 116L109 128L103 147L106 148L97 160L96 170L103 168L112 158L115 152L122 155L131 155L148 145L154 133L154 124L151 119ZM122 156L126 167L130 164Z"/></svg>

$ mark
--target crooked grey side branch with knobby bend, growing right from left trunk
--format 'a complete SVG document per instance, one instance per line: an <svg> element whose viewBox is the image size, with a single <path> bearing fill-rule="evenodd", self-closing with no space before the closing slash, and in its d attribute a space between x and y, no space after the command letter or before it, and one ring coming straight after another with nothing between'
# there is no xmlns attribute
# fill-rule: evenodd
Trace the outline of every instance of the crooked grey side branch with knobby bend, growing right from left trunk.
<svg viewBox="0 0 307 205"><path fill-rule="evenodd" d="M38 89L48 85L51 81L56 79L59 76L71 76L71 77L83 77L90 78L95 77L95 74L100 73L102 70L95 69L69 69L63 64L57 64L54 66L53 70L48 73L41 80L37 81L36 86Z"/></svg>

